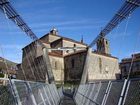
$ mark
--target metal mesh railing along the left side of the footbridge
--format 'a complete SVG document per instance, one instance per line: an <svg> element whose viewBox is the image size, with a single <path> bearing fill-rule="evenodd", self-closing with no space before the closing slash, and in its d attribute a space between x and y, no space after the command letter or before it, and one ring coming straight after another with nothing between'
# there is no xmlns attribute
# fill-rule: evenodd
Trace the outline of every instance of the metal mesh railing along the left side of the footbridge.
<svg viewBox="0 0 140 105"><path fill-rule="evenodd" d="M58 105L60 102L61 97L55 84L13 79L11 85L12 89L7 80L7 85L0 86L8 90L7 93L4 93L4 89L0 90L0 105ZM3 97L4 94L8 95Z"/></svg>

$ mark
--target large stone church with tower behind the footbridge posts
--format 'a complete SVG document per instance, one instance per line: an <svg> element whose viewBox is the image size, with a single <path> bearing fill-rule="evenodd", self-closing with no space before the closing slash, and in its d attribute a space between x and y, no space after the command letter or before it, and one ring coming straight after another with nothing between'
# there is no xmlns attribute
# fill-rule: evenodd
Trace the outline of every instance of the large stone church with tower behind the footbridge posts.
<svg viewBox="0 0 140 105"><path fill-rule="evenodd" d="M65 81L80 81L83 67L87 55L87 44L75 41L58 35L56 29L52 29L48 34L40 38L40 41L47 48L59 47L82 47L74 50L49 50L49 59L52 72L57 83ZM100 50L99 50L100 49ZM90 69L88 70L89 80L93 79L115 79L115 74L119 71L118 59L109 54L109 43L102 39L97 44L97 51L91 53ZM19 75L24 75L26 80L47 81L47 70L43 61L42 47L36 42L23 48L22 67L19 68ZM17 76L19 79L22 76Z"/></svg>

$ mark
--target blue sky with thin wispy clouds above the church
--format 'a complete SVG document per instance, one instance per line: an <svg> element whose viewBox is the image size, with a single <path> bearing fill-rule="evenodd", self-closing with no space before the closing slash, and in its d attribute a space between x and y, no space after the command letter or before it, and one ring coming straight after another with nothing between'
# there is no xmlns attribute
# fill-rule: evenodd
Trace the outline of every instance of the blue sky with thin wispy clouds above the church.
<svg viewBox="0 0 140 105"><path fill-rule="evenodd" d="M89 44L125 0L10 0L38 37L56 27L59 34ZM111 54L120 59L140 51L140 8L107 35ZM128 21L128 26L125 30ZM0 56L21 62L22 48L32 40L0 12Z"/></svg>

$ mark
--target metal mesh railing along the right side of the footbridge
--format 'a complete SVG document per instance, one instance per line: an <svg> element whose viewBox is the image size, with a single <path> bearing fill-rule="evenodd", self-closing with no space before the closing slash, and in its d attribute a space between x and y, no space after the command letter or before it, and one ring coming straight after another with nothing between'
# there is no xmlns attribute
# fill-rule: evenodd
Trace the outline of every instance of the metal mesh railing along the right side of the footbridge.
<svg viewBox="0 0 140 105"><path fill-rule="evenodd" d="M74 99L77 105L139 105L140 78L81 84Z"/></svg>

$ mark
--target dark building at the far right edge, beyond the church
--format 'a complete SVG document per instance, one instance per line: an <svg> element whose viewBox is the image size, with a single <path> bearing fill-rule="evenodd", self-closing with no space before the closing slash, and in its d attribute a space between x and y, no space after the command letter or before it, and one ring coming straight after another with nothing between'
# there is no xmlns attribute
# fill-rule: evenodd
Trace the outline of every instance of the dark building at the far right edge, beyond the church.
<svg viewBox="0 0 140 105"><path fill-rule="evenodd" d="M131 58L122 59L120 70L122 78L127 78L130 70L130 78L140 77L140 53L133 54Z"/></svg>

